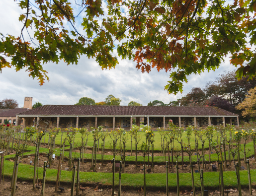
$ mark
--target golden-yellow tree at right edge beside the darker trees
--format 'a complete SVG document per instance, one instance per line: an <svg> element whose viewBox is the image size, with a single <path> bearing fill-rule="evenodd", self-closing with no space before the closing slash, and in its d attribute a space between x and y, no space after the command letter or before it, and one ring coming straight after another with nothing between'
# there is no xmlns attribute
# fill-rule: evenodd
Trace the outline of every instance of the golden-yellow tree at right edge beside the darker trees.
<svg viewBox="0 0 256 196"><path fill-rule="evenodd" d="M256 87L249 90L245 100L236 109L243 110L242 116L256 117Z"/></svg>

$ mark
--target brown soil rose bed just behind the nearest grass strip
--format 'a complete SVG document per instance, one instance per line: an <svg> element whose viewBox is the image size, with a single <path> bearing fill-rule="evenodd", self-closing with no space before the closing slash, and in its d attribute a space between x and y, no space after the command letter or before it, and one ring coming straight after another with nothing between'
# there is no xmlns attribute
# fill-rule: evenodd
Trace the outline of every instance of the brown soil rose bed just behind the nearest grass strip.
<svg viewBox="0 0 256 196"><path fill-rule="evenodd" d="M14 158L10 159L10 161L13 161L13 160L14 160ZM31 161L32 161L32 163L30 163ZM44 155L40 155L39 156L39 167L43 167L44 161L47 161L47 157ZM33 165L34 164L34 156L30 155L27 157L23 157L23 159L21 160L21 163ZM217 162L213 162L213 164L216 165L217 171L218 171ZM241 164L242 164L242 166L244 166L245 169L247 169L247 166L244 161L241 161ZM52 161L51 169L58 169L58 165L59 165L59 159L56 158L55 160ZM75 161L75 165L77 165L76 161ZM146 162L146 165L147 165L147 162ZM233 165L234 165L234 163L231 162L231 166L224 167L224 171L235 171L235 167ZM125 173L129 173L129 174L143 173L143 170L142 170L143 165L139 164L137 167L138 168L136 170L135 164L128 164L128 166L125 167ZM68 168L68 161L64 160L64 163L62 163L62 165L61 165L61 170L65 170L65 169L67 170L67 168ZM85 162L84 164L83 163L80 164L81 172L89 172L89 171L91 171L90 168L91 168L91 161ZM200 168L203 168L202 164L200 164ZM254 157L252 159L250 159L250 168L256 169L256 164L254 163ZM151 169L150 173L153 172L152 166L149 166L149 167L146 166L146 169ZM195 164L194 170L199 170L197 164ZM209 168L208 168L208 165L206 165L206 167L204 167L204 172L211 172L211 171L212 171L211 164L209 164ZM112 163L106 162L105 164L103 164L103 166L101 165L101 163L97 163L96 164L96 172L111 173L112 172ZM116 172L118 172L118 171L116 171ZM169 172L170 173L172 172L172 168L169 169ZM173 165L173 172L176 173L175 165ZM179 173L189 173L189 172L190 172L189 166L183 167L183 170L182 170L182 166L179 165ZM160 164L154 165L154 173L166 173L165 165L160 165Z"/></svg>

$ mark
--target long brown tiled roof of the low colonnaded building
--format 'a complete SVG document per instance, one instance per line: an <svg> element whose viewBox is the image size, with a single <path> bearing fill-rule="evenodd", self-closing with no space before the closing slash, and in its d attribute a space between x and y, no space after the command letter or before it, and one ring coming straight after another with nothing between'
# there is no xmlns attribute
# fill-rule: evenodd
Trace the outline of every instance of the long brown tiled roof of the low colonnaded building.
<svg viewBox="0 0 256 196"><path fill-rule="evenodd" d="M19 114L51 116L238 116L217 107L44 105Z"/></svg>

